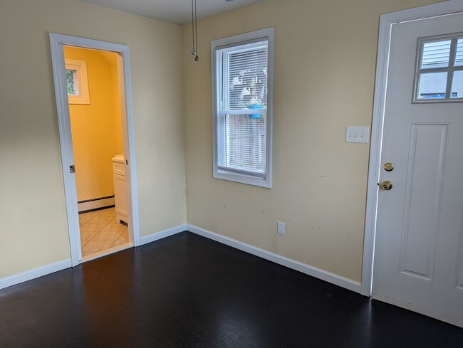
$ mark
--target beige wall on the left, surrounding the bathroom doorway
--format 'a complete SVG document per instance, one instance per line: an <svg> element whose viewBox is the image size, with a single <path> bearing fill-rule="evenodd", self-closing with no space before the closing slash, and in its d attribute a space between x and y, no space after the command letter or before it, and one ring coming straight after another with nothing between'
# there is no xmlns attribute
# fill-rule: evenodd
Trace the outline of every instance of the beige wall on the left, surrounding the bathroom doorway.
<svg viewBox="0 0 463 348"><path fill-rule="evenodd" d="M0 0L0 278L70 258L48 32L130 47L140 234L186 222L180 26Z"/></svg>

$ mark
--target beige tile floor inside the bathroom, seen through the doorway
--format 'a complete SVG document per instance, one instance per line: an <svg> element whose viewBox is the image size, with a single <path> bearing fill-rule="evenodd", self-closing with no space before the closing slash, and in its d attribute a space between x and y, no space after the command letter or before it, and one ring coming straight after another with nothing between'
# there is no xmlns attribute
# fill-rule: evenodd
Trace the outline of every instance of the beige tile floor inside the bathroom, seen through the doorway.
<svg viewBox="0 0 463 348"><path fill-rule="evenodd" d="M115 208L79 214L82 256L99 253L129 242L127 226L117 223Z"/></svg>

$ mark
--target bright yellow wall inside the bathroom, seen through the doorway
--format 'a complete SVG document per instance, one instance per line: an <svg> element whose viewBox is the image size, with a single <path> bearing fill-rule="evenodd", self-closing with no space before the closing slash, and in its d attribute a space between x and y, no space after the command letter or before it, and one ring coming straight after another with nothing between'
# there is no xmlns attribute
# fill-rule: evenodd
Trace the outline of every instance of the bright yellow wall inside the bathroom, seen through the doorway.
<svg viewBox="0 0 463 348"><path fill-rule="evenodd" d="M69 105L78 201L114 194L111 158L123 153L116 54L64 48L87 63L90 90L90 105Z"/></svg>

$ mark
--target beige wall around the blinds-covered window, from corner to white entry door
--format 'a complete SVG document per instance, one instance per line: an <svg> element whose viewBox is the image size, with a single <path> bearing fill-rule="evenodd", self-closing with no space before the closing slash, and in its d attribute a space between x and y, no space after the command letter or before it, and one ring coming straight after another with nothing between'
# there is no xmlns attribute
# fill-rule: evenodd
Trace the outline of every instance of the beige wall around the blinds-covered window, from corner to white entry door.
<svg viewBox="0 0 463 348"><path fill-rule="evenodd" d="M183 26L187 221L360 281L380 14L417 0L268 0ZM273 26L273 188L212 179L210 41ZM276 221L286 223L277 236Z"/></svg>

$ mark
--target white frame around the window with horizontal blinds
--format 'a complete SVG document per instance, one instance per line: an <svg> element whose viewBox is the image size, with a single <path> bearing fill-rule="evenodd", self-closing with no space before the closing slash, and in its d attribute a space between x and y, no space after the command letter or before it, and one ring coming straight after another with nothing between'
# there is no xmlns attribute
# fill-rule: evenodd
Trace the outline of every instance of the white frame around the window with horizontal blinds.
<svg viewBox="0 0 463 348"><path fill-rule="evenodd" d="M268 62L267 62L267 109L266 109L266 173L264 177L252 174L227 171L219 169L218 166L218 139L217 139L217 113L218 102L217 95L221 92L222 86L219 80L222 79L217 71L216 51L221 48L240 46L246 43L264 39L268 41ZM258 31L251 31L236 36L229 36L219 40L211 41L211 70L212 70L212 158L213 174L215 179L235 181L241 184L249 184L271 188L271 159L272 159L272 116L273 116L273 99L274 99L274 28L265 28ZM219 90L217 90L219 88Z"/></svg>

